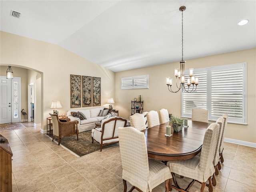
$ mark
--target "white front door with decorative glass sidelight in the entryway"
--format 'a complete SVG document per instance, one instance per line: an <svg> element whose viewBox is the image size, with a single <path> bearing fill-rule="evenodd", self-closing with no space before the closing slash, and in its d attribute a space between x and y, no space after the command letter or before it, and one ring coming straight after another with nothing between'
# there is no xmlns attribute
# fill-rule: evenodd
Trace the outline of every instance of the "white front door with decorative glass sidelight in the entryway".
<svg viewBox="0 0 256 192"><path fill-rule="evenodd" d="M20 122L20 77L0 77L0 124Z"/></svg>

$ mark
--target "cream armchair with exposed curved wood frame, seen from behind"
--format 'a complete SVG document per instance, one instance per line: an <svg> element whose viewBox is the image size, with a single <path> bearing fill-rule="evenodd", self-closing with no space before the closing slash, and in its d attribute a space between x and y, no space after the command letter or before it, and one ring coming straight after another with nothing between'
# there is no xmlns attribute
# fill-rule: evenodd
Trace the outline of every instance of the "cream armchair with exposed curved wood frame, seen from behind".
<svg viewBox="0 0 256 192"><path fill-rule="evenodd" d="M122 117L110 117L101 121L101 127L92 129L92 143L95 140L100 143L100 151L103 145L118 143L118 128L125 127L127 120Z"/></svg>

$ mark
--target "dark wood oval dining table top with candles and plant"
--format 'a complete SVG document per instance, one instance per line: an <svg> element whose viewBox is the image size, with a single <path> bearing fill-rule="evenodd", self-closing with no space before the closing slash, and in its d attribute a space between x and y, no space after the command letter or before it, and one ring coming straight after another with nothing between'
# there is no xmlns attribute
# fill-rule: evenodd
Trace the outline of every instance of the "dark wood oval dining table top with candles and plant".
<svg viewBox="0 0 256 192"><path fill-rule="evenodd" d="M188 120L188 128L176 133L171 128L172 136L165 136L168 123L146 130L148 157L156 160L186 160L196 156L202 148L204 133L210 123Z"/></svg>

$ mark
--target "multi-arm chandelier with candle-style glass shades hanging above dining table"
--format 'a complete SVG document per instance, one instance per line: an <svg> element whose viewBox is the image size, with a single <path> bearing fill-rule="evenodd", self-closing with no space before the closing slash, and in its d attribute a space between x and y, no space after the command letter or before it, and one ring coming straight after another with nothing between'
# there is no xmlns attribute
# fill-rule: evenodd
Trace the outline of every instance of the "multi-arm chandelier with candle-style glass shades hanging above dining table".
<svg viewBox="0 0 256 192"><path fill-rule="evenodd" d="M172 90L172 78L166 77L166 85L168 86L168 90L172 93L178 92L182 89L182 92L194 92L196 90L197 85L199 84L199 78L194 76L194 69L189 69L189 78L187 79L187 86L185 86L185 75L184 75L184 66L185 62L183 60L183 11L186 10L185 6L180 7L180 11L182 12L182 59L180 61L180 70L178 68L174 69L174 76L176 77L176 87L178 90Z"/></svg>

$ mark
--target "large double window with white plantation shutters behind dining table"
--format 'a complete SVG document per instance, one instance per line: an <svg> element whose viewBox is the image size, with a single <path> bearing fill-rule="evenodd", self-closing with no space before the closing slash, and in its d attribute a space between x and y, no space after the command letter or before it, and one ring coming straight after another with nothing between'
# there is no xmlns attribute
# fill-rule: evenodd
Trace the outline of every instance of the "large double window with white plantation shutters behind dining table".
<svg viewBox="0 0 256 192"><path fill-rule="evenodd" d="M188 70L185 70L186 78ZM228 114L228 122L246 124L246 63L195 69L199 85L194 93L182 92L182 116L193 108L209 110L209 120Z"/></svg>

